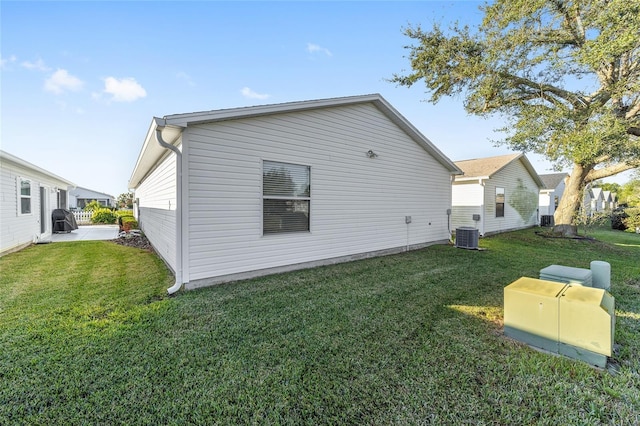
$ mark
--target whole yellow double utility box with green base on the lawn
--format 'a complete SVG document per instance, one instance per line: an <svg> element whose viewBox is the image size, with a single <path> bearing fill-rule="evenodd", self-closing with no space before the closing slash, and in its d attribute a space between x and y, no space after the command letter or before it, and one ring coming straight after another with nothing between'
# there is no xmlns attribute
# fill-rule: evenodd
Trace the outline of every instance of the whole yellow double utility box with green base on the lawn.
<svg viewBox="0 0 640 426"><path fill-rule="evenodd" d="M613 349L615 299L604 289L522 277L504 288L504 333L605 367Z"/></svg>

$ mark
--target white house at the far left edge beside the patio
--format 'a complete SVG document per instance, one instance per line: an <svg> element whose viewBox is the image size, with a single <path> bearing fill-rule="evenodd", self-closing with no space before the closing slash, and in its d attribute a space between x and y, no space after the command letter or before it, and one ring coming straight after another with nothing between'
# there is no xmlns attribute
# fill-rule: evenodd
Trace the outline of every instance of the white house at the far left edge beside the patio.
<svg viewBox="0 0 640 426"><path fill-rule="evenodd" d="M50 241L51 213L68 208L75 185L0 151L0 255Z"/></svg>

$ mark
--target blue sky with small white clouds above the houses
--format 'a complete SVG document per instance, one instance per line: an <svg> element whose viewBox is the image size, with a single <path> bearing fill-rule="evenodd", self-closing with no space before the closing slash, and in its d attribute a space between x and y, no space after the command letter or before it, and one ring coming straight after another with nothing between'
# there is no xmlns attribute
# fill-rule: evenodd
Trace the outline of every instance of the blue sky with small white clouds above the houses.
<svg viewBox="0 0 640 426"><path fill-rule="evenodd" d="M380 93L454 161L506 154L499 119L386 81L409 68L403 28L477 24L480 4L3 1L1 147L117 196L154 116Z"/></svg>

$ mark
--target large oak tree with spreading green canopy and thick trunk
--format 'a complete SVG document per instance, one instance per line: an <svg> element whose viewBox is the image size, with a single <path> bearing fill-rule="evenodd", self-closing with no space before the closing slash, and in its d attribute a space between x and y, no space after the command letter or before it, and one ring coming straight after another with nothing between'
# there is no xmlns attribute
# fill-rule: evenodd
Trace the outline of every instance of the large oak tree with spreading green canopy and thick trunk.
<svg viewBox="0 0 640 426"><path fill-rule="evenodd" d="M462 95L467 112L499 114L500 141L571 167L556 230L576 232L586 184L640 165L640 1L496 0L477 28L411 26L411 71L429 101Z"/></svg>

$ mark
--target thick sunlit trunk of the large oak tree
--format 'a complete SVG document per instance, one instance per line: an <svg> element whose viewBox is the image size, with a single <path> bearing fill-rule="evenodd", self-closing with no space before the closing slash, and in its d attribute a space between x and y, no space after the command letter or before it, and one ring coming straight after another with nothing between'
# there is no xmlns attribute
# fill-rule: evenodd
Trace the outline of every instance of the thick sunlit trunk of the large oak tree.
<svg viewBox="0 0 640 426"><path fill-rule="evenodd" d="M553 232L562 234L564 237L573 237L578 234L578 227L574 219L584 197L585 178L591 169L592 167L583 167L580 164L573 165L573 171L567 180L564 193L553 215L555 223Z"/></svg>

